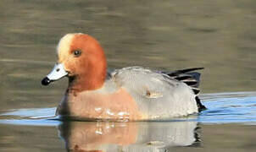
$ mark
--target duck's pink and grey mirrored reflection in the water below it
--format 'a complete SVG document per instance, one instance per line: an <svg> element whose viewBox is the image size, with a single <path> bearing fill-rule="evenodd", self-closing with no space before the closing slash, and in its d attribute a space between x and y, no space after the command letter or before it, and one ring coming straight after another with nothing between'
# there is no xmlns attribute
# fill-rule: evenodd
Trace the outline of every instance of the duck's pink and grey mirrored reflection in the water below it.
<svg viewBox="0 0 256 152"><path fill-rule="evenodd" d="M63 122L68 151L164 151L198 143L198 122Z"/></svg>

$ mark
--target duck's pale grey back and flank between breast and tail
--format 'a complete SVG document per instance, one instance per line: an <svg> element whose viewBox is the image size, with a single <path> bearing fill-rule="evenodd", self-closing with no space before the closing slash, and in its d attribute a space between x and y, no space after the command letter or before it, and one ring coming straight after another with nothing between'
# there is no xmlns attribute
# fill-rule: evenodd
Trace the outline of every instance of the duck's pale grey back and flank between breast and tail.
<svg viewBox="0 0 256 152"><path fill-rule="evenodd" d="M146 114L145 119L164 120L198 112L193 90L167 73L121 68L111 73L110 79L131 94L139 111Z"/></svg>

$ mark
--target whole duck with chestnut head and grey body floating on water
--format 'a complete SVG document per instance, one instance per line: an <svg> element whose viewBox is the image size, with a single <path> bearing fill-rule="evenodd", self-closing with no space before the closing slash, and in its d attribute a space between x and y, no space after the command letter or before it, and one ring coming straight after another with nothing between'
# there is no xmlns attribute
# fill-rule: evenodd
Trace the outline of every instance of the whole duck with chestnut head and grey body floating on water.
<svg viewBox="0 0 256 152"><path fill-rule="evenodd" d="M103 47L91 35L70 33L57 46L58 62L42 85L67 77L56 115L81 121L163 121L203 111L203 68L157 71L139 66L108 71Z"/></svg>

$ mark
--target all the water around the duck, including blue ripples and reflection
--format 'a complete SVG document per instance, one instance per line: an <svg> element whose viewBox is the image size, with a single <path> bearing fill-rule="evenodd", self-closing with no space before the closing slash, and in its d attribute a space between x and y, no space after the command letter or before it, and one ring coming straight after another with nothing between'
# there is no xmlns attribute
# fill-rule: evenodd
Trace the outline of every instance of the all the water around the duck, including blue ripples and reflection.
<svg viewBox="0 0 256 152"><path fill-rule="evenodd" d="M255 151L256 2L0 1L0 151ZM205 67L208 110L170 122L61 122L67 79L42 87L66 33L104 47L109 68Z"/></svg>

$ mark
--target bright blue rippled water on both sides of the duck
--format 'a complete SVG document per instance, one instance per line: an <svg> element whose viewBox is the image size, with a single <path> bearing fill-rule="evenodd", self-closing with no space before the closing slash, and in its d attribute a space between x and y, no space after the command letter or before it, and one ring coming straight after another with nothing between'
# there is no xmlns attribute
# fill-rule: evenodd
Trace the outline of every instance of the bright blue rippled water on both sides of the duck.
<svg viewBox="0 0 256 152"><path fill-rule="evenodd" d="M208 108L198 115L171 119L168 122L254 123L256 122L256 93L237 92L201 95ZM55 107L14 109L0 114L0 123L17 125L56 126ZM57 121L56 121L57 120Z"/></svg>

